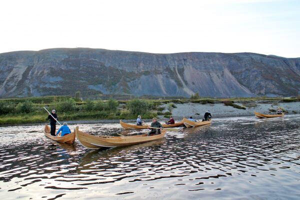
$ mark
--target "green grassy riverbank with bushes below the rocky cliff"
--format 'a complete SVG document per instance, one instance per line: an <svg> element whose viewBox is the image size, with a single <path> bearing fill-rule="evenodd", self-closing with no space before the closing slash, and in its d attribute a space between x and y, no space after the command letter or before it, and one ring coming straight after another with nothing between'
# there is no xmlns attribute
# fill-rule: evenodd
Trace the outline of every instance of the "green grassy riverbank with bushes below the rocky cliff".
<svg viewBox="0 0 300 200"><path fill-rule="evenodd" d="M47 122L46 107L49 111L56 110L59 121L95 120L95 119L143 119L165 117L172 115L175 104L216 104L232 106L236 109L246 109L255 106L255 102L293 102L294 98L228 98L228 99L133 99L121 100L78 100L70 96L45 96L0 99L0 125L26 124ZM236 104L237 103L237 104Z"/></svg>

